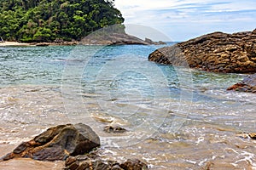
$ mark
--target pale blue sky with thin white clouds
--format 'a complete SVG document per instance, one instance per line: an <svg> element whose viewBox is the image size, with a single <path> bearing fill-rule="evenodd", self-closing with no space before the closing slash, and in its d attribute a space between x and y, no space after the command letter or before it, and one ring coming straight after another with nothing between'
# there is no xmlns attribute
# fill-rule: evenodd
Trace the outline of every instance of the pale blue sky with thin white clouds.
<svg viewBox="0 0 256 170"><path fill-rule="evenodd" d="M256 0L115 0L125 24L147 26L174 42L223 31L253 31ZM143 31L142 31L143 32ZM154 39L160 40L160 39Z"/></svg>

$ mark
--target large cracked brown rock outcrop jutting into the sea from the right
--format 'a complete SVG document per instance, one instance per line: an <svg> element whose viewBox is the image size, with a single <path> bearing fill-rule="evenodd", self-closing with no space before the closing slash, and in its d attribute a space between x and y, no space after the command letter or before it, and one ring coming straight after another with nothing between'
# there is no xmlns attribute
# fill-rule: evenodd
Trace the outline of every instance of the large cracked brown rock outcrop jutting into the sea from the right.
<svg viewBox="0 0 256 170"><path fill-rule="evenodd" d="M256 29L226 34L213 32L172 47L159 48L148 60L203 71L256 72Z"/></svg>

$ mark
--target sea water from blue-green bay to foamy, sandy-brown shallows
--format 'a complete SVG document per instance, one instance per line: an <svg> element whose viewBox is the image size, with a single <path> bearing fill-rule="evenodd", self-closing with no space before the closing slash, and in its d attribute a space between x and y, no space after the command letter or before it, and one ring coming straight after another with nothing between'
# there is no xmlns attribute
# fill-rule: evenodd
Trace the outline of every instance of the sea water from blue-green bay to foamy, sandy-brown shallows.
<svg viewBox="0 0 256 170"><path fill-rule="evenodd" d="M168 42L168 46L174 42ZM256 169L256 95L227 91L247 75L159 65L166 45L0 47L0 153L45 129L88 124L104 160L149 169ZM104 127L124 127L106 133ZM241 137L242 136L242 137ZM61 169L15 159L0 169Z"/></svg>

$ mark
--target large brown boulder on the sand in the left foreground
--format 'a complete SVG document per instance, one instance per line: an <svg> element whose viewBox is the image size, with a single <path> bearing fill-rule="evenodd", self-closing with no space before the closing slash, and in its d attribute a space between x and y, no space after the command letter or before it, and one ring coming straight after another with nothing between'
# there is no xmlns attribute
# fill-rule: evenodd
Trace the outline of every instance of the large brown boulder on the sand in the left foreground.
<svg viewBox="0 0 256 170"><path fill-rule="evenodd" d="M100 139L87 125L67 124L50 127L34 139L21 143L0 160L27 157L40 161L66 160L68 156L89 153L100 146Z"/></svg>

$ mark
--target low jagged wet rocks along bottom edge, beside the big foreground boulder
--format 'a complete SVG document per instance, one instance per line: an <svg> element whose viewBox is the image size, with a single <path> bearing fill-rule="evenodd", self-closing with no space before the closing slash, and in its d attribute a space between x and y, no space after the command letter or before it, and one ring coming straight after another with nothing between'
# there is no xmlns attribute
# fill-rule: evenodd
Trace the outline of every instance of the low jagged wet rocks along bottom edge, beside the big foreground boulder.
<svg viewBox="0 0 256 170"><path fill-rule="evenodd" d="M146 170L148 166L139 160L127 160L123 163L117 161L103 161L94 153L84 156L70 156L65 162L64 170Z"/></svg>

